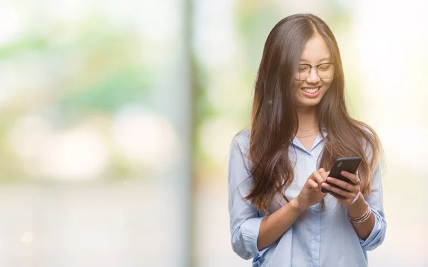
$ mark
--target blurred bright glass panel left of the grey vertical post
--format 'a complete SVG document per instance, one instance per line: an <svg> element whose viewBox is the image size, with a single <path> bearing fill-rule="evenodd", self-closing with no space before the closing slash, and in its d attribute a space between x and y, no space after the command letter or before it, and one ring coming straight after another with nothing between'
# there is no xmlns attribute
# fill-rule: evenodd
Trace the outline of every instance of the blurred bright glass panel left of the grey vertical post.
<svg viewBox="0 0 428 267"><path fill-rule="evenodd" d="M1 266L185 266L185 1L3 1Z"/></svg>

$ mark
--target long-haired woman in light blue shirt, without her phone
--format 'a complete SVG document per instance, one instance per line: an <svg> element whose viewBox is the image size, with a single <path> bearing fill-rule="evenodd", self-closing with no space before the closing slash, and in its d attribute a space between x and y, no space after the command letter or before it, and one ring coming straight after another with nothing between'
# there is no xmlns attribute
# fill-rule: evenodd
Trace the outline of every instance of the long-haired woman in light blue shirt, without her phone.
<svg viewBox="0 0 428 267"><path fill-rule="evenodd" d="M235 253L253 266L367 266L366 251L387 227L381 151L370 126L347 113L327 24L312 14L282 19L267 37L250 129L230 147ZM362 158L356 174L342 173L352 183L328 177L335 159L349 156Z"/></svg>

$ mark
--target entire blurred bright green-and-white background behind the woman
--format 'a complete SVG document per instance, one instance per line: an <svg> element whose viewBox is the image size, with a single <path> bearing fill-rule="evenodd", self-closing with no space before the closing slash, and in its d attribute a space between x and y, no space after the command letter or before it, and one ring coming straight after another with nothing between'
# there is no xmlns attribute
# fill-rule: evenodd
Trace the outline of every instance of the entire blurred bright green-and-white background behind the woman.
<svg viewBox="0 0 428 267"><path fill-rule="evenodd" d="M428 266L424 1L2 0L0 266L250 266L228 149L267 34L313 13L386 155L370 266Z"/></svg>

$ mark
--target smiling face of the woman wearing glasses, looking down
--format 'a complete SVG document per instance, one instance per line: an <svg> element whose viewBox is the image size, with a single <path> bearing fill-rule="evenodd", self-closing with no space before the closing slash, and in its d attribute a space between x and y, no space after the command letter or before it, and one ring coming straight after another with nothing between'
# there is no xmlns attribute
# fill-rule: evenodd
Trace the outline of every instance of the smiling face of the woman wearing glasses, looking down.
<svg viewBox="0 0 428 267"><path fill-rule="evenodd" d="M310 64L314 66L324 63L332 63L330 49L324 39L322 39L322 36L320 36L320 34L315 34L315 36L305 44L302 56L300 57L300 64ZM320 72L325 70L325 66L328 66L328 64L320 66L319 69L312 67L310 75L304 81L295 79L293 82L293 89L295 91L297 106L317 106L317 104L320 103L322 96L324 96L330 88L330 84L332 84L334 77L334 75L331 75L327 79L320 79L320 76L325 76ZM333 68L333 66L330 66L330 68ZM296 75L298 76L299 72L301 74L304 69L305 68L299 68ZM317 74L320 74L320 76Z"/></svg>

